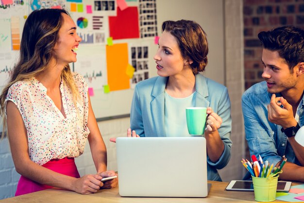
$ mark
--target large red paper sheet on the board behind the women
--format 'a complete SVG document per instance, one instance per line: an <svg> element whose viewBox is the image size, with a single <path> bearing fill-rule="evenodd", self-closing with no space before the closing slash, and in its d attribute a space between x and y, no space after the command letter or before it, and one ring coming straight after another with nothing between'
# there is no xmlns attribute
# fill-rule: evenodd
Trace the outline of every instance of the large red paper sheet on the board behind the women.
<svg viewBox="0 0 304 203"><path fill-rule="evenodd" d="M110 36L113 39L139 38L137 7L123 11L117 8L117 16L109 17Z"/></svg>

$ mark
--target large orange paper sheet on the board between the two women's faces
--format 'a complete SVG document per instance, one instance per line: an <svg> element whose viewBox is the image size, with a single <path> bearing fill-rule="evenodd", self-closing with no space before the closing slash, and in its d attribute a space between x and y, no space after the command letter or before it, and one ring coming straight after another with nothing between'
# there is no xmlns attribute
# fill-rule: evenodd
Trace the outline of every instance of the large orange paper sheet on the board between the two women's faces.
<svg viewBox="0 0 304 203"><path fill-rule="evenodd" d="M130 89L130 77L126 74L129 63L128 44L106 46L106 60L110 91Z"/></svg>

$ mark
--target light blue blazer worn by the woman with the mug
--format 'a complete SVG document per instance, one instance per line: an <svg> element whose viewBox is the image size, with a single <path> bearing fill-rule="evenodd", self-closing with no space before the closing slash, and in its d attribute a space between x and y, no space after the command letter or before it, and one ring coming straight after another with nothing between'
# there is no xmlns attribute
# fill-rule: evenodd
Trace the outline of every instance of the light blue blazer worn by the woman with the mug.
<svg viewBox="0 0 304 203"><path fill-rule="evenodd" d="M166 137L165 88L168 77L152 77L137 83L131 106L131 129L141 137ZM207 156L208 180L221 181L217 169L231 157L231 114L227 88L202 74L195 75L195 106L211 107L222 119L219 129L224 143L220 159L213 163Z"/></svg>

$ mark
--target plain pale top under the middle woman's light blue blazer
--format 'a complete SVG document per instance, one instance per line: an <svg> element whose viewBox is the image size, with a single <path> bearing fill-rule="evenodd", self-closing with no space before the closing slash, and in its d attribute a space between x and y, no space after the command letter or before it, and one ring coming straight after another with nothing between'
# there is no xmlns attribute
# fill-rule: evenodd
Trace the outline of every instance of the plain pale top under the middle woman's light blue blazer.
<svg viewBox="0 0 304 203"><path fill-rule="evenodd" d="M165 129L167 137L190 137L186 108L195 107L195 94L174 98L165 91Z"/></svg>

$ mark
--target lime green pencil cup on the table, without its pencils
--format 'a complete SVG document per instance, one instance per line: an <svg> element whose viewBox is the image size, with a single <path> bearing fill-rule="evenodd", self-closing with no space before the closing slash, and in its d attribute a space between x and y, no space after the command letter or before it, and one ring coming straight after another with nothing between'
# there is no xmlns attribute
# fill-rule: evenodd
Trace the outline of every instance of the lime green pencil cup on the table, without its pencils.
<svg viewBox="0 0 304 203"><path fill-rule="evenodd" d="M257 202L272 202L275 201L276 188L278 185L279 176L270 174L268 178L253 177L254 200Z"/></svg>

